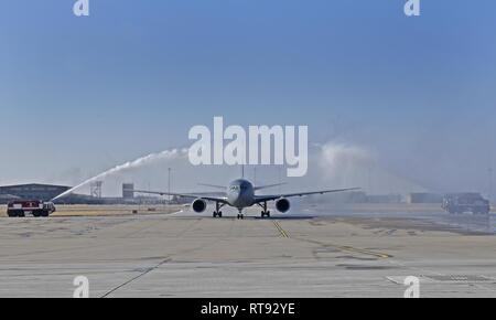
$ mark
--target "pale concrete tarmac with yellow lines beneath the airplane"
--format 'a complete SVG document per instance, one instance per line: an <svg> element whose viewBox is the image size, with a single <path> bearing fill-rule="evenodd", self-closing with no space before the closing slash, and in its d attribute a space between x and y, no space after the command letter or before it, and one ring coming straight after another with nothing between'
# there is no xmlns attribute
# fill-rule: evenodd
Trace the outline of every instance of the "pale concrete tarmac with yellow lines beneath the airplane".
<svg viewBox="0 0 496 320"><path fill-rule="evenodd" d="M493 216L230 215L0 217L0 297L496 297Z"/></svg>

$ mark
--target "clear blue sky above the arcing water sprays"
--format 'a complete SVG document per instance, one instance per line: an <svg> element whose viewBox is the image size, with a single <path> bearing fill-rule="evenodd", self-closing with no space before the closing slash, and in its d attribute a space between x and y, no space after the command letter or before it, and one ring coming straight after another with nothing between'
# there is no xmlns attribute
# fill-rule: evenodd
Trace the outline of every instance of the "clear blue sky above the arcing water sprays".
<svg viewBox="0 0 496 320"><path fill-rule="evenodd" d="M184 147L214 116L309 125L434 190L496 168L495 1L74 2L0 0L0 183Z"/></svg>

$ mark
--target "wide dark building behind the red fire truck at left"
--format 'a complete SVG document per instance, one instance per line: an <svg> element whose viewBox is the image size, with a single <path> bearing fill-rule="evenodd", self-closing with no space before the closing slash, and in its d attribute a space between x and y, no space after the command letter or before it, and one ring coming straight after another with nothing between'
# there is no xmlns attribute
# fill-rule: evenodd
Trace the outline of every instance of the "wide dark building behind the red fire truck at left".
<svg viewBox="0 0 496 320"><path fill-rule="evenodd" d="M71 186L65 185L37 183L0 186L0 203L19 199L48 201L69 189Z"/></svg>

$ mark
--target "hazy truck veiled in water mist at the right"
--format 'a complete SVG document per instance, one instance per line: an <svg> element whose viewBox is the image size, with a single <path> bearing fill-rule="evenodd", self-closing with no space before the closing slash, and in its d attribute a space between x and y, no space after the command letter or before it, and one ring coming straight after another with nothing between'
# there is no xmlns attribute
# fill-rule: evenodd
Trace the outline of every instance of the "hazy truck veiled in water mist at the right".
<svg viewBox="0 0 496 320"><path fill-rule="evenodd" d="M443 210L451 214L471 212L473 214L488 215L490 212L489 201L479 193L451 193L443 199Z"/></svg>

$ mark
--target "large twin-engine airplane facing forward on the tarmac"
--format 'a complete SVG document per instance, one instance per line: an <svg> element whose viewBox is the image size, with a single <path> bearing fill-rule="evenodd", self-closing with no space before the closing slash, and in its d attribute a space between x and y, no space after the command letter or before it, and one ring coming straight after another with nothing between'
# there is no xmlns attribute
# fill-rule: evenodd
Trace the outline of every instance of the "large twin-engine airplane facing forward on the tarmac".
<svg viewBox="0 0 496 320"><path fill-rule="evenodd" d="M255 186L250 181L247 179L237 179L229 183L227 186L227 190L225 186L222 185L213 185L213 184L201 184L204 186L215 188L215 189L223 189L225 190L224 195L204 195L200 193L173 193L173 192L160 192L160 191L145 191L145 190L133 190L136 193L148 193L148 194L159 194L159 195L172 195L177 198L190 198L195 199L191 207L196 213L202 213L207 207L207 201L215 202L215 211L214 211L214 218L215 217L222 217L223 212L220 211L222 207L228 205L236 207L238 210L238 220L244 218L245 215L242 214L242 210L246 207L250 207L254 205L258 205L262 209L261 211L261 217L270 217L270 211L267 210L267 202L269 201L276 201L276 209L280 213L287 213L290 207L290 201L288 198L293 196L304 196L304 195L311 195L311 194L325 194L325 193L335 193L335 192L345 192L345 191L353 191L358 190L359 188L348 188L348 189L334 189L334 190L321 190L321 191L311 191L311 192L296 192L296 193L281 193L281 194L272 194L272 195L257 195L256 191L273 188L281 185L283 183L278 184L270 184L270 185L262 185L262 186Z"/></svg>

